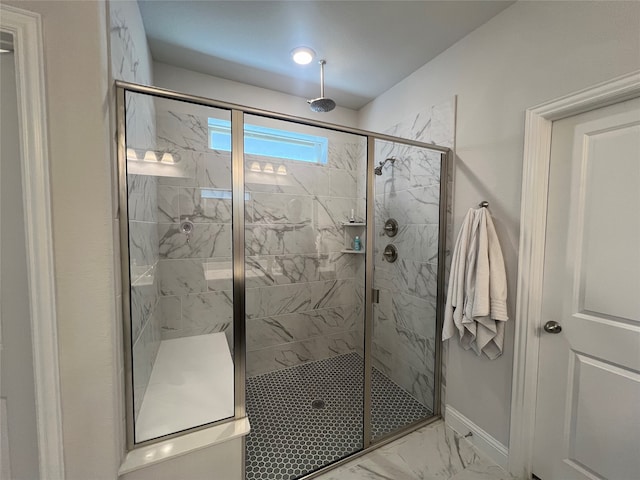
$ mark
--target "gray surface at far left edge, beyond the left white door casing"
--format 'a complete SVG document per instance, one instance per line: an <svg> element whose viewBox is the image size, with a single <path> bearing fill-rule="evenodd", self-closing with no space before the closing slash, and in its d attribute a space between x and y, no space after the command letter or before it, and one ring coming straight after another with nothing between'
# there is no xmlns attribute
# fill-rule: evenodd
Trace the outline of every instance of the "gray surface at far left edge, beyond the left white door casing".
<svg viewBox="0 0 640 480"><path fill-rule="evenodd" d="M18 48L20 48L18 46ZM31 316L22 202L22 161L13 53L0 55L0 318L2 319L2 385L6 402L12 477L38 478L38 432L31 354ZM28 128L28 127L27 127ZM2 418L2 422L5 418ZM5 432L3 432L5 433ZM4 445L3 445L4 447ZM5 465L2 465L3 468Z"/></svg>

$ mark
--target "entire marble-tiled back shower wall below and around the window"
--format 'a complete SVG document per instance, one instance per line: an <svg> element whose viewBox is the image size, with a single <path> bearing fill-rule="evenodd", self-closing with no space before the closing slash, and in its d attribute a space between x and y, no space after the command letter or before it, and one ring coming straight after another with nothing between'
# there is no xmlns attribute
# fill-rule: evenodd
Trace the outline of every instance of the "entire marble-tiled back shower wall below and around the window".
<svg viewBox="0 0 640 480"><path fill-rule="evenodd" d="M223 331L231 347L231 155L208 148L207 125L228 113L160 99L155 111L157 148L180 159L157 186L161 337ZM351 209L364 212L356 179L365 142L328 136L326 164L246 156L248 375L362 349L355 274L364 257L341 250L342 222ZM267 163L286 175L255 171ZM189 236L185 220L194 224Z"/></svg>

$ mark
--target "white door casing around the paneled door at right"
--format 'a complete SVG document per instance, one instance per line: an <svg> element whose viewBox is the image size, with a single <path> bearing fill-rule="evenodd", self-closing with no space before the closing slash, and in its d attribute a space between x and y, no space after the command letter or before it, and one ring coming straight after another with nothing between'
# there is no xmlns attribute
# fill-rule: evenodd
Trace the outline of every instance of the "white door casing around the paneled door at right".
<svg viewBox="0 0 640 480"><path fill-rule="evenodd" d="M522 478L532 474L552 124L638 96L640 70L526 111L509 432L509 471Z"/></svg>

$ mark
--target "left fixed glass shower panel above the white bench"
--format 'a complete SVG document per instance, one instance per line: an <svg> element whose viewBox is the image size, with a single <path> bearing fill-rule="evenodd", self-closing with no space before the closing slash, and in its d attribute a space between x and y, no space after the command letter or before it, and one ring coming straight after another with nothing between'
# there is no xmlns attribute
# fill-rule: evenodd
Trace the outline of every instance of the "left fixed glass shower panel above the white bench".
<svg viewBox="0 0 640 480"><path fill-rule="evenodd" d="M130 441L234 416L230 111L126 92ZM126 287L125 287L126 288Z"/></svg>

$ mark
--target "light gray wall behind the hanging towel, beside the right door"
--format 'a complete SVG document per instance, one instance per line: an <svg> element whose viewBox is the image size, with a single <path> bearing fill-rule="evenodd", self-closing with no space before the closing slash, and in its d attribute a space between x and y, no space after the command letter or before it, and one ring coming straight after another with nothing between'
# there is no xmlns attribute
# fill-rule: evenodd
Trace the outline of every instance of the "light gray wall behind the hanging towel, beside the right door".
<svg viewBox="0 0 640 480"><path fill-rule="evenodd" d="M518 2L360 111L385 130L416 104L458 96L457 234L469 207L491 203L505 256L511 320L495 361L450 341L447 403L509 443L520 187L526 108L640 68L637 2Z"/></svg>

